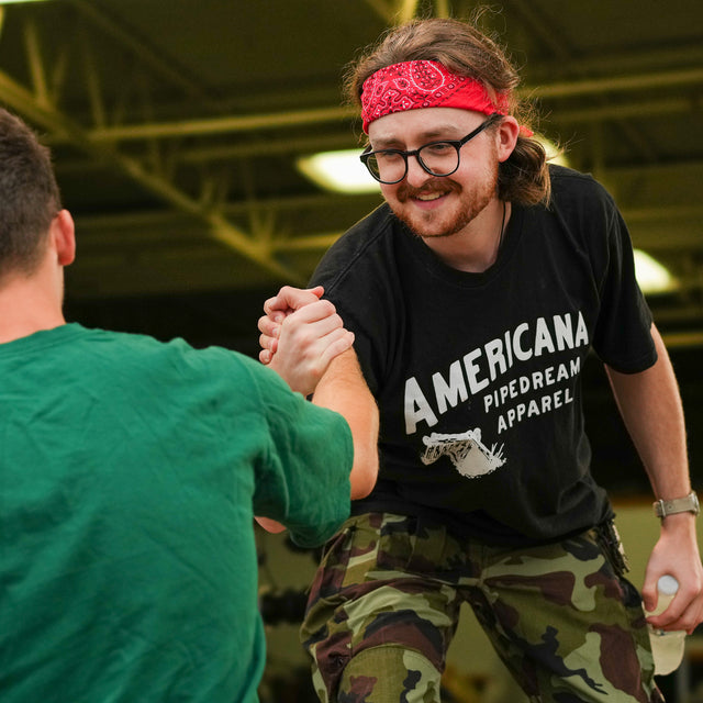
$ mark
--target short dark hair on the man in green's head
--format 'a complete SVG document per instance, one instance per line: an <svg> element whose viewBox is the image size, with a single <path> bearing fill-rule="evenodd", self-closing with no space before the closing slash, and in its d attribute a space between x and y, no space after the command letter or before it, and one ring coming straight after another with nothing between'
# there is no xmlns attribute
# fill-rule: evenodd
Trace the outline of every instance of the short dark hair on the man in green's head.
<svg viewBox="0 0 703 703"><path fill-rule="evenodd" d="M0 108L0 278L35 270L59 210L48 149L26 124Z"/></svg>

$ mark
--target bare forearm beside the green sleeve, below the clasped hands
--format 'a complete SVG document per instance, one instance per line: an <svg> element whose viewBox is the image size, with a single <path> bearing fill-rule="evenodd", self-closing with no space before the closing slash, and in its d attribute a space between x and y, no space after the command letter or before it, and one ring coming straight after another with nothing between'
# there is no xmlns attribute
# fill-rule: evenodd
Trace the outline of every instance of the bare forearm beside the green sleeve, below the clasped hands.
<svg viewBox="0 0 703 703"><path fill-rule="evenodd" d="M315 389L313 403L338 412L354 440L352 499L368 495L378 477L379 416L353 349L335 358Z"/></svg>

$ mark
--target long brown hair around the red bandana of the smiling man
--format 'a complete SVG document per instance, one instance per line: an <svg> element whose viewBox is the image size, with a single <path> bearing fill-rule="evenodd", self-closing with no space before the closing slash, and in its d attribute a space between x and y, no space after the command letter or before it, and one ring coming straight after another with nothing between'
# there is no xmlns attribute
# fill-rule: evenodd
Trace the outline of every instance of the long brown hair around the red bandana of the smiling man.
<svg viewBox="0 0 703 703"><path fill-rule="evenodd" d="M528 124L532 109L515 94L520 76L501 47L472 24L450 19L414 20L389 30L347 68L344 90L355 105L360 104L364 81L377 70L411 60L435 60L450 71L483 85L495 100L507 96L509 114ZM548 202L549 170L545 149L535 138L517 137L515 149L499 167L498 194L523 204Z"/></svg>

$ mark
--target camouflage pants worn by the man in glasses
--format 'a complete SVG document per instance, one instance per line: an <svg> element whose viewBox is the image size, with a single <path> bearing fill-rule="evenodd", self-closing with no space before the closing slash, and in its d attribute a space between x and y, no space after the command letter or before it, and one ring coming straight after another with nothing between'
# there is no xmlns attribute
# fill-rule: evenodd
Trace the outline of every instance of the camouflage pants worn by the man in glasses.
<svg viewBox="0 0 703 703"><path fill-rule="evenodd" d="M468 602L531 701L661 703L641 600L605 533L506 549L421 518L352 517L325 547L301 629L320 700L438 702Z"/></svg>

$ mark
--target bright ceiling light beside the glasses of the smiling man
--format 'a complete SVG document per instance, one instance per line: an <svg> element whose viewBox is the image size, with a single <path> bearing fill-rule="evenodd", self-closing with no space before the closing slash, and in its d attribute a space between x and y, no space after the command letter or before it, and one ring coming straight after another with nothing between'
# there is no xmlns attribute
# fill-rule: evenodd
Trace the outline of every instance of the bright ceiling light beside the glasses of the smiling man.
<svg viewBox="0 0 703 703"><path fill-rule="evenodd" d="M379 192L379 185L359 160L360 149L323 152L298 159L300 171L325 190L339 193Z"/></svg>

